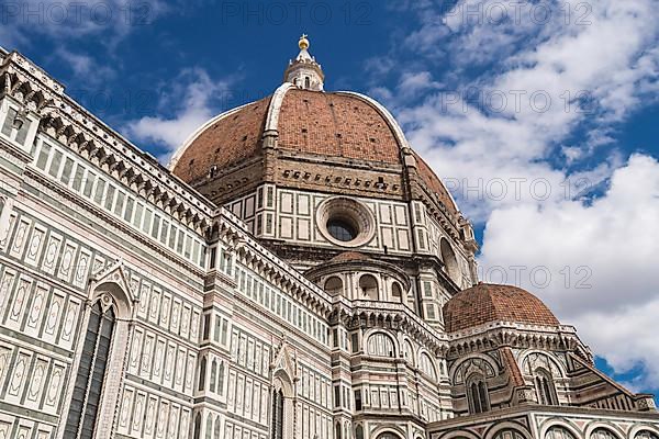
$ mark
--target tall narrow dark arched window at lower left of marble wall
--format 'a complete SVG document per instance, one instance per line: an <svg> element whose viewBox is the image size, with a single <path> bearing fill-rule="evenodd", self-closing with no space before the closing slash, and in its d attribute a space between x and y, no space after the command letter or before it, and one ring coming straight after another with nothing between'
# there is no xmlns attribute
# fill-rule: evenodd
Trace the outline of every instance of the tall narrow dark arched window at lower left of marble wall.
<svg viewBox="0 0 659 439"><path fill-rule="evenodd" d="M94 434L114 334L114 322L113 307L103 309L100 301L97 301L89 315L80 364L64 429L64 436L67 438L91 439Z"/></svg>

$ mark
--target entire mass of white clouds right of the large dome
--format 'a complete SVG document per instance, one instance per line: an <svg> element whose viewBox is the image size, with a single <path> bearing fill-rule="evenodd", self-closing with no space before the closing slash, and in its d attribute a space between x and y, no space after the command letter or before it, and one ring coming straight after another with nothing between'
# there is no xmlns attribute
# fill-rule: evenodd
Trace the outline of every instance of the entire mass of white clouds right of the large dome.
<svg viewBox="0 0 659 439"><path fill-rule="evenodd" d="M493 2L463 0L458 7L479 3ZM558 10L563 4L543 3ZM424 11L407 47L414 48L414 42L443 45L445 38L438 52L448 57L447 65L493 63L493 68L476 77L461 70L460 77L450 77L456 92L436 92L422 102L410 103L396 88L389 103L411 144L455 189L461 210L484 225L479 260L490 274L487 280L496 281L492 268L503 267L506 280L515 282L515 267L527 267L523 286L574 324L616 372L640 364L646 374L634 385L657 389L659 346L652 324L659 312L659 165L647 155L602 151L615 142L617 123L657 100L656 1L588 5L590 24L577 21L576 12L584 11L572 9L570 20L559 16L541 26L473 22L451 12L442 27ZM417 55L425 56L426 48ZM436 57L428 57L434 63ZM443 82L451 74L427 81ZM469 88L479 91L477 102L462 91ZM520 105L515 93L522 97ZM529 99L534 93L536 102ZM507 99L502 108L488 101L501 95ZM546 109L543 98L551 102ZM590 168L580 166L585 158ZM582 196L584 181L599 196L588 191ZM539 288L546 272L551 282ZM592 288L577 289L579 281Z"/></svg>

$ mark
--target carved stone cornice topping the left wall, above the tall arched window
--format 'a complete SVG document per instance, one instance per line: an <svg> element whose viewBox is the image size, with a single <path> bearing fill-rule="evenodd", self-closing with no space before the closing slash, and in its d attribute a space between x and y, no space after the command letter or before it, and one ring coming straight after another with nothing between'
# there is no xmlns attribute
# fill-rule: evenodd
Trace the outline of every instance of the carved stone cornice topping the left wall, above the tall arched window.
<svg viewBox="0 0 659 439"><path fill-rule="evenodd" d="M0 89L10 94L40 121L40 132L87 157L102 170L132 169L132 178L148 182L148 194L154 188L168 192L172 211L190 212L183 215L186 225L203 234L211 221L214 206L153 156L141 151L129 140L76 103L64 93L64 87L45 71L18 53L9 54L0 66ZM120 180L131 187L134 180Z"/></svg>

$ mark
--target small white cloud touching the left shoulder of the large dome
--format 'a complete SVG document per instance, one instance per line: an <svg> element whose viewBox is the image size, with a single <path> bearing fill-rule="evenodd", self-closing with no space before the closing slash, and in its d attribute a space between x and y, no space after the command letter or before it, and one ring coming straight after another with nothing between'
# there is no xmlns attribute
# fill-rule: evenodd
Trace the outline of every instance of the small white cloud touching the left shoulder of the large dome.
<svg viewBox="0 0 659 439"><path fill-rule="evenodd" d="M160 160L167 161L177 147L216 114L217 99L231 98L234 82L235 78L214 80L200 68L187 69L160 97L157 106L165 115L144 116L129 122L126 135L138 143L164 146L166 151Z"/></svg>

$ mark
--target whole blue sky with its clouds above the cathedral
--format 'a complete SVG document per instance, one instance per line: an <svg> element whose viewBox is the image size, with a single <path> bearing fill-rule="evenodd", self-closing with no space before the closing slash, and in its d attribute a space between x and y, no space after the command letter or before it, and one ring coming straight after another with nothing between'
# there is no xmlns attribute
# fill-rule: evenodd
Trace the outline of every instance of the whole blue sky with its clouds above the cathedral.
<svg viewBox="0 0 659 439"><path fill-rule="evenodd" d="M529 289L607 373L659 393L658 7L29 0L0 7L0 44L166 161L271 93L308 33L325 88L383 102L445 179L481 277Z"/></svg>

